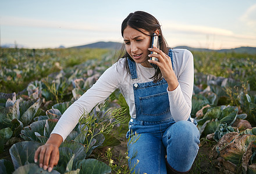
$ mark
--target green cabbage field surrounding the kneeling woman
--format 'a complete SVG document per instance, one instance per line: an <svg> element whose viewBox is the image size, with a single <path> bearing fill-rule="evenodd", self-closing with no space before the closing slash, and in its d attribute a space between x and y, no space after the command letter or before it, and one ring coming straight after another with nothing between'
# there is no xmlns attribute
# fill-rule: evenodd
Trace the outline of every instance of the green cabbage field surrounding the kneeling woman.
<svg viewBox="0 0 256 174"><path fill-rule="evenodd" d="M35 150L116 55L107 49L0 48L0 173L48 173L34 163ZM256 55L193 55L191 117L201 143L190 173L256 173ZM129 117L116 90L80 119L59 147L52 173L129 173Z"/></svg>

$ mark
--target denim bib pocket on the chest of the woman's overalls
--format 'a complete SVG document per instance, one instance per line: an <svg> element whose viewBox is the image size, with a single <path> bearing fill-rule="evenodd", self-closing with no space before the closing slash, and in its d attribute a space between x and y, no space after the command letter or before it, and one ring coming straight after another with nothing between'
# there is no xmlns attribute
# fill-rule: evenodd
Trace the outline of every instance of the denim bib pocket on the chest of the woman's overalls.
<svg viewBox="0 0 256 174"><path fill-rule="evenodd" d="M170 111L169 97L167 92L155 95L139 97L140 110L143 115L162 115Z"/></svg>

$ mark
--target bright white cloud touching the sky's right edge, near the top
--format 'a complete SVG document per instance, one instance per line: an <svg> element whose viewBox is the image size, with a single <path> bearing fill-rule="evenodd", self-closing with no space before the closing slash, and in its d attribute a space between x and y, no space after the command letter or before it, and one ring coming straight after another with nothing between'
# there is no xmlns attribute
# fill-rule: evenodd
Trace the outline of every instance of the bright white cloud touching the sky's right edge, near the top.
<svg viewBox="0 0 256 174"><path fill-rule="evenodd" d="M256 27L256 3L253 6L250 6L246 12L239 18L241 21L247 24L250 27Z"/></svg>

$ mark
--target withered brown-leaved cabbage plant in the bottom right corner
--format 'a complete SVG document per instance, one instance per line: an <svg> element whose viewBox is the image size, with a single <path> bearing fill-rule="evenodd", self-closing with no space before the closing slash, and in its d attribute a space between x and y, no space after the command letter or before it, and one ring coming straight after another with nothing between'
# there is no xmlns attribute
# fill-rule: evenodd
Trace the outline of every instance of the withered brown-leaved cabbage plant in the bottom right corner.
<svg viewBox="0 0 256 174"><path fill-rule="evenodd" d="M256 128L227 133L216 144L215 150L215 156L224 171L256 172Z"/></svg>

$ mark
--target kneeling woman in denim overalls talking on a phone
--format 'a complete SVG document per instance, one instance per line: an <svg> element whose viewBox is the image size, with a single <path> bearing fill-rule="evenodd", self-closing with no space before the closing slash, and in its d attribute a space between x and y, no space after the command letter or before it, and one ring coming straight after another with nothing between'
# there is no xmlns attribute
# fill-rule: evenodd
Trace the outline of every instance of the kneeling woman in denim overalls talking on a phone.
<svg viewBox="0 0 256 174"><path fill-rule="evenodd" d="M153 34L159 37L159 49L150 48ZM184 49L168 49L158 20L146 12L126 17L122 37L126 49L123 58L65 111L47 143L35 152L35 162L40 154L40 167L51 171L58 164L58 147L84 111L90 112L120 89L130 108L127 138L134 132L139 135L129 147L131 171L155 174L190 170L200 143L196 122L190 117L193 55ZM150 60L153 56L158 61Z"/></svg>

